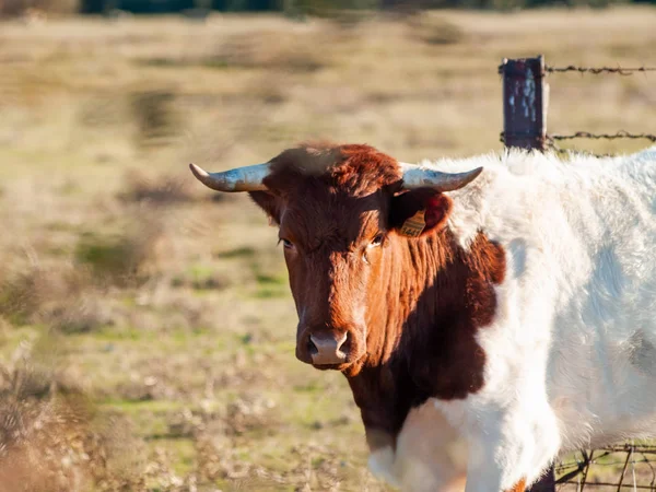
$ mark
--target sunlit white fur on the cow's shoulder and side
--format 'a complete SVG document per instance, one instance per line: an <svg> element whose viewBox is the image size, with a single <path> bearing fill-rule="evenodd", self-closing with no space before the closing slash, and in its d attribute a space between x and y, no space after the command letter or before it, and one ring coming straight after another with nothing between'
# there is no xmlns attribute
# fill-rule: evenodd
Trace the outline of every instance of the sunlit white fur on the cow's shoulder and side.
<svg viewBox="0 0 656 492"><path fill-rule="evenodd" d="M656 436L656 148L423 165L484 167L449 194L449 226L464 246L483 231L506 251L495 320L478 336L485 384L435 401L468 441L467 492L530 483L560 453Z"/></svg>

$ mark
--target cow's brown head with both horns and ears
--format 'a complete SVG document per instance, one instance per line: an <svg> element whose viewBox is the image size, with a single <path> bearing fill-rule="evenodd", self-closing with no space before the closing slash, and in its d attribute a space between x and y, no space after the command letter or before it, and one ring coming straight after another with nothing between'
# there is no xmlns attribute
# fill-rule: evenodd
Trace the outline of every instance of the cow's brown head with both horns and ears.
<svg viewBox="0 0 656 492"><path fill-rule="evenodd" d="M248 191L279 226L296 303L296 356L344 371L367 352L382 316L383 283L395 247L441 230L442 195L482 171L446 174L398 163L367 145L303 145L266 164L198 179L219 191Z"/></svg>

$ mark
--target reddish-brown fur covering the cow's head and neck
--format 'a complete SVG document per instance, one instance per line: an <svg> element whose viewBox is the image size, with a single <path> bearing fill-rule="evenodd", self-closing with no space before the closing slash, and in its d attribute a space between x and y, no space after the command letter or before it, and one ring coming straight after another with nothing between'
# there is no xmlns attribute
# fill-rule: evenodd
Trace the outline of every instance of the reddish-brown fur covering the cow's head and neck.
<svg viewBox="0 0 656 492"><path fill-rule="evenodd" d="M372 448L395 445L412 407L461 399L483 385L476 341L496 309L505 254L480 232L468 250L446 226L453 207L432 189L401 190L397 162L366 145L306 145L272 161L269 191L251 197L280 224L298 313L296 354L308 337L347 332L347 376ZM399 233L426 210L419 238ZM367 247L384 234L379 247Z"/></svg>

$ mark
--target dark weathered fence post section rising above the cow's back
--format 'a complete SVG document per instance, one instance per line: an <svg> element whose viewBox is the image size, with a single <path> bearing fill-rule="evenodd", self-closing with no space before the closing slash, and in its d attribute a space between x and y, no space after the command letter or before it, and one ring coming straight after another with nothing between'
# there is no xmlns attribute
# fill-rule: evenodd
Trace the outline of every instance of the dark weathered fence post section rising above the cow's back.
<svg viewBox="0 0 656 492"><path fill-rule="evenodd" d="M547 149L547 104L544 58L504 58L503 134L506 147Z"/></svg>

